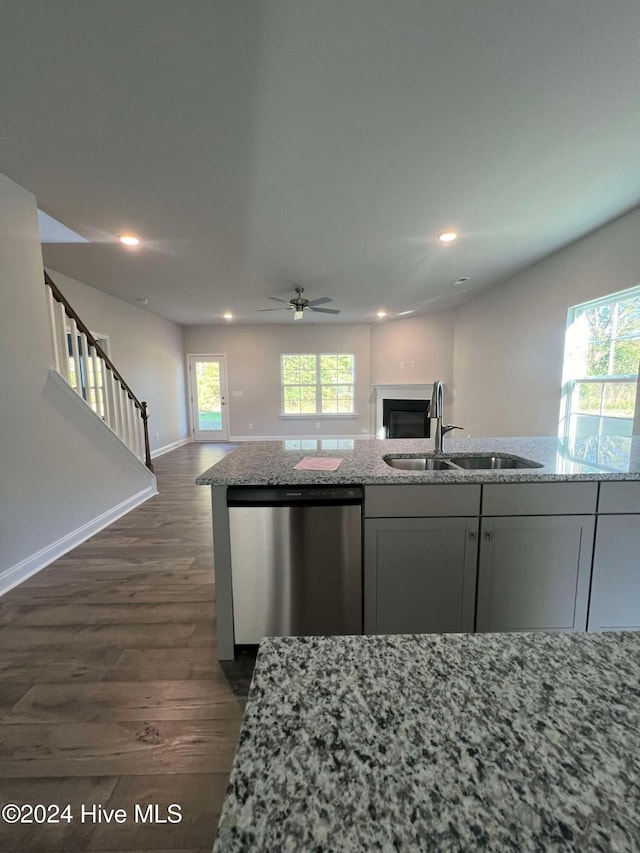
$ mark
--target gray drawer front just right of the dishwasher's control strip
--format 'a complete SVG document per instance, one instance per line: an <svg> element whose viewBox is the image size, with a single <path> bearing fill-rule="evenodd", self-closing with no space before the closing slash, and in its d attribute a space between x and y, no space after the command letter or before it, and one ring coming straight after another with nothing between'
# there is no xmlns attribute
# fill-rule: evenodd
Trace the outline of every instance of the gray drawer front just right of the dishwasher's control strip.
<svg viewBox="0 0 640 853"><path fill-rule="evenodd" d="M469 516L480 513L480 485L365 486L369 518Z"/></svg>

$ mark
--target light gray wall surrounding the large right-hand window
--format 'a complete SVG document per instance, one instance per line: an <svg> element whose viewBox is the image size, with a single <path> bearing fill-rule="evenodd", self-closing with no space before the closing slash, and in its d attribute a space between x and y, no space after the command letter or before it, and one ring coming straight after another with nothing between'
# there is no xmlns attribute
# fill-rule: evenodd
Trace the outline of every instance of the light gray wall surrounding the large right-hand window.
<svg viewBox="0 0 640 853"><path fill-rule="evenodd" d="M465 433L557 435L567 309L640 282L639 235L635 209L458 309L453 419Z"/></svg>

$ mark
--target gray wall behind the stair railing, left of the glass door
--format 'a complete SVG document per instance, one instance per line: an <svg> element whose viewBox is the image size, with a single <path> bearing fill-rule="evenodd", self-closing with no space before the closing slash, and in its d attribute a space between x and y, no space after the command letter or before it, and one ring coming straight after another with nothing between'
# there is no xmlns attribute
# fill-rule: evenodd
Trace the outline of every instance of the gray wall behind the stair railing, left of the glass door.
<svg viewBox="0 0 640 853"><path fill-rule="evenodd" d="M49 272L89 329L109 336L111 360L138 399L149 404L151 450L186 438L182 327L62 273Z"/></svg>

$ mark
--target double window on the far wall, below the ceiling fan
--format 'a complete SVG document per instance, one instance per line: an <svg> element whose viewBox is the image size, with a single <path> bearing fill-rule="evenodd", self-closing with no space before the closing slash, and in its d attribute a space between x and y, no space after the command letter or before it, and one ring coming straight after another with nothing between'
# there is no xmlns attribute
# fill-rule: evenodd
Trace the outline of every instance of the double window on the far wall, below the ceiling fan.
<svg viewBox="0 0 640 853"><path fill-rule="evenodd" d="M353 353L281 356L282 412L285 415L353 415Z"/></svg>

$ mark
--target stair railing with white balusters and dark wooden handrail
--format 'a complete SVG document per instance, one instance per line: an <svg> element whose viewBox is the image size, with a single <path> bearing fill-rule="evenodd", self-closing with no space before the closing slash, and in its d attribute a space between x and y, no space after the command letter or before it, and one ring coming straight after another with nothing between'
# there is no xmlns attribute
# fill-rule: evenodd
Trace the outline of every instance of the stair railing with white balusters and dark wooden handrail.
<svg viewBox="0 0 640 853"><path fill-rule="evenodd" d="M45 270L54 367L150 471L149 409Z"/></svg>

